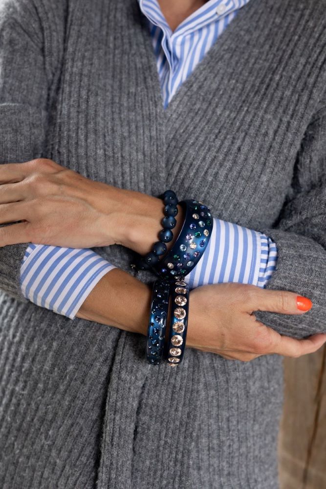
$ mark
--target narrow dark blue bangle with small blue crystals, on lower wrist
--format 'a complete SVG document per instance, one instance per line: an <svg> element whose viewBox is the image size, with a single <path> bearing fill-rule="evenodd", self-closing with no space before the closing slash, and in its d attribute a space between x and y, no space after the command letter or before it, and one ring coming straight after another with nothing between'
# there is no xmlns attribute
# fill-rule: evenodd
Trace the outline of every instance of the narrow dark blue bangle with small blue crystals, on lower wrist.
<svg viewBox="0 0 326 489"><path fill-rule="evenodd" d="M146 345L146 358L152 365L158 365L163 358L168 306L169 282L157 279L152 289Z"/></svg>

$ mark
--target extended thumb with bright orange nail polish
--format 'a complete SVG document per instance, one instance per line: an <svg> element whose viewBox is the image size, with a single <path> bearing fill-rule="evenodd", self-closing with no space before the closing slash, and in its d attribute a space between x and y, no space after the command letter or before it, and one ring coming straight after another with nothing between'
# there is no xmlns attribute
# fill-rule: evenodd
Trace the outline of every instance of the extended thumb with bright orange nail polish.
<svg viewBox="0 0 326 489"><path fill-rule="evenodd" d="M302 314L309 311L312 302L308 297L288 290L270 290L250 287L245 293L247 311L271 311L282 314Z"/></svg>

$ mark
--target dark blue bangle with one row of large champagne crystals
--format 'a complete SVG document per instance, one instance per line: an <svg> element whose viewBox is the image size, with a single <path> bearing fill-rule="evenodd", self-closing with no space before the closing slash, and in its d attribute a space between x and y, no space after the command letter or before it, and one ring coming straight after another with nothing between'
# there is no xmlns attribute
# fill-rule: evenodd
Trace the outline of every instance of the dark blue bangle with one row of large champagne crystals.
<svg viewBox="0 0 326 489"><path fill-rule="evenodd" d="M171 318L164 358L172 366L180 365L185 354L189 310L189 286L183 280L170 281Z"/></svg>

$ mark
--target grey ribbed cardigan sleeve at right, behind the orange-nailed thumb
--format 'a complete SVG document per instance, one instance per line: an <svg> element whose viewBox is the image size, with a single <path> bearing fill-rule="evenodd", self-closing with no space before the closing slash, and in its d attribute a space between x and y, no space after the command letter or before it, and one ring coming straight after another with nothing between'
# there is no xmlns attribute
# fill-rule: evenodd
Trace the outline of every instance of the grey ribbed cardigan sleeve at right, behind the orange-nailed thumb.
<svg viewBox="0 0 326 489"><path fill-rule="evenodd" d="M277 190L277 189L276 189ZM291 194L275 227L260 229L278 249L276 271L266 289L309 297L303 315L256 311L281 334L303 338L326 332L326 101L315 112L298 150Z"/></svg>

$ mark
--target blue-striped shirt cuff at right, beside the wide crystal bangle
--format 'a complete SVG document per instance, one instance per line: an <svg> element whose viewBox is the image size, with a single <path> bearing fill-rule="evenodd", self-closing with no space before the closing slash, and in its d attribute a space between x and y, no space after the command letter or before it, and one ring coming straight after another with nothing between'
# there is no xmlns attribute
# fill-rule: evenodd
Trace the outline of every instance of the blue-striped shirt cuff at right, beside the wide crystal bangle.
<svg viewBox="0 0 326 489"><path fill-rule="evenodd" d="M277 248L270 238L259 231L213 218L209 244L185 281L190 289L225 282L264 288L276 269L276 262Z"/></svg>

